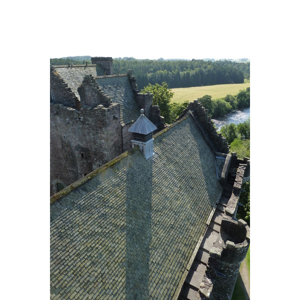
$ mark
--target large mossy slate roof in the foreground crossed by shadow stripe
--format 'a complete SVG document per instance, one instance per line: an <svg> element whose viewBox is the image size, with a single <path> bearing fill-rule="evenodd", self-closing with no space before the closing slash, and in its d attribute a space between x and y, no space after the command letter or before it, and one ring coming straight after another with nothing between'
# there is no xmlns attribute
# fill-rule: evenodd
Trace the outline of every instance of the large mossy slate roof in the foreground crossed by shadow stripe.
<svg viewBox="0 0 300 300"><path fill-rule="evenodd" d="M221 191L191 117L50 205L51 299L171 299Z"/></svg>

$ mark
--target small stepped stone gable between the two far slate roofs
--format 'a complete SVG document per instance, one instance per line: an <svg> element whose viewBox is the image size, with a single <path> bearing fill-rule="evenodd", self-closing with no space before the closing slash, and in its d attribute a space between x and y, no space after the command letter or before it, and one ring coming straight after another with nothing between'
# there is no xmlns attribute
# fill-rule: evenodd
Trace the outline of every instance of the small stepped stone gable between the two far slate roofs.
<svg viewBox="0 0 300 300"><path fill-rule="evenodd" d="M100 104L108 107L112 103L111 98L104 94L92 75L85 75L77 90L80 95L81 107L96 107Z"/></svg>

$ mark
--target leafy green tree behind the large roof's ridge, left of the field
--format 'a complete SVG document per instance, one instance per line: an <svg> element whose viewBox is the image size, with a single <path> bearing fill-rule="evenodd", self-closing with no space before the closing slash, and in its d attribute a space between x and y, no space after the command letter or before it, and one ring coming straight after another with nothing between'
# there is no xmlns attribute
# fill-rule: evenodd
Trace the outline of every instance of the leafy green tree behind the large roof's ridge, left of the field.
<svg viewBox="0 0 300 300"><path fill-rule="evenodd" d="M160 109L160 115L164 117L165 123L171 123L170 119L170 100L173 96L173 92L170 88L167 87L166 82L162 82L162 85L155 83L148 84L145 88L143 88L140 92L146 93L151 92L153 94L153 105L158 105Z"/></svg>

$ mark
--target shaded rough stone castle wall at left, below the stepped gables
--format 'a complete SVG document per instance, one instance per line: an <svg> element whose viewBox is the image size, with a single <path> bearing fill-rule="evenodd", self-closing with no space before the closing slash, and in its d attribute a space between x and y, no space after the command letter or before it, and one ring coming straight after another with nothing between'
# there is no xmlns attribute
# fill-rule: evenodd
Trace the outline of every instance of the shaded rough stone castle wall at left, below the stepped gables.
<svg viewBox="0 0 300 300"><path fill-rule="evenodd" d="M119 104L82 107L50 104L50 194L122 153Z"/></svg>

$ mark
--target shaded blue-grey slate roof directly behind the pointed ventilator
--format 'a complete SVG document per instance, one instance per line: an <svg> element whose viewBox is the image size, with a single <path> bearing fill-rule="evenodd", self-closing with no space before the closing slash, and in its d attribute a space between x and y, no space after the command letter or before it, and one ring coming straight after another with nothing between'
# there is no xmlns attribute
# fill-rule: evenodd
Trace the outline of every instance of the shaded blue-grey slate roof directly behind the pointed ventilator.
<svg viewBox="0 0 300 300"><path fill-rule="evenodd" d="M120 104L120 123L131 123L140 115L139 105L135 100L131 83L126 74L95 78L95 81L103 89L106 95L111 97L112 102Z"/></svg>

